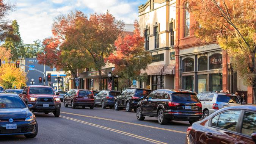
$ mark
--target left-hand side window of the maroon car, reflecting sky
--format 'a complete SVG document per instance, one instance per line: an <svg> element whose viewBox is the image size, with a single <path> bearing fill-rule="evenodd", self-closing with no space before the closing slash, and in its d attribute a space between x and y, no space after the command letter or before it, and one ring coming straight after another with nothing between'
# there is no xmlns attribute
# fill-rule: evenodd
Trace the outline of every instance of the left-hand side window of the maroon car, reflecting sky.
<svg viewBox="0 0 256 144"><path fill-rule="evenodd" d="M216 127L236 131L236 125L241 111L226 111L220 114Z"/></svg>

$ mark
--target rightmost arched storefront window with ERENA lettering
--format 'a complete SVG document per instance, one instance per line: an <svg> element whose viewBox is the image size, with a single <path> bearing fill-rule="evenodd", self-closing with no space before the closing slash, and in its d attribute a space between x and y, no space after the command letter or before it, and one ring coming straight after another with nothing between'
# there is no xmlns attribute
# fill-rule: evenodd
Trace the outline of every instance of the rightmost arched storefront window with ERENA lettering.
<svg viewBox="0 0 256 144"><path fill-rule="evenodd" d="M209 59L209 69L221 69L222 68L222 55L220 53L215 53L210 56Z"/></svg>

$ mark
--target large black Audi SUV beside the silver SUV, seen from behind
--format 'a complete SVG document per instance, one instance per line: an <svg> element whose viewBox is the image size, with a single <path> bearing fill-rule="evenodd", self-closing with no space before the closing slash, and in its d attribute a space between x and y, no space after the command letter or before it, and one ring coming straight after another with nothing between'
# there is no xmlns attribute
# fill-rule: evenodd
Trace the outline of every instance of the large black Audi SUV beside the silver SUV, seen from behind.
<svg viewBox="0 0 256 144"><path fill-rule="evenodd" d="M137 119L145 116L157 117L159 124L169 121L189 121L190 124L202 117L202 105L193 92L157 89L137 105Z"/></svg>

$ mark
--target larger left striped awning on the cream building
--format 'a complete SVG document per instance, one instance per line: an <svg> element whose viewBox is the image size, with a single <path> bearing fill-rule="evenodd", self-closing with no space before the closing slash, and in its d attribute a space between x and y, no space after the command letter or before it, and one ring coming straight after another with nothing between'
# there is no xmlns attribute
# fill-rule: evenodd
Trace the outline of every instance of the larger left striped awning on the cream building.
<svg viewBox="0 0 256 144"><path fill-rule="evenodd" d="M147 73L147 75L162 75L163 66L165 66L165 64L148 66L146 70L141 69L140 72L141 74Z"/></svg>

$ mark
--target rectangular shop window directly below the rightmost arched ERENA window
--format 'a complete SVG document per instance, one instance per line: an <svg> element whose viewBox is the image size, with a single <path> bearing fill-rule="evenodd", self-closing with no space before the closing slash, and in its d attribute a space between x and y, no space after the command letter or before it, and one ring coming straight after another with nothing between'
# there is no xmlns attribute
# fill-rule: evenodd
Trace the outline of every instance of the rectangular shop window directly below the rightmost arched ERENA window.
<svg viewBox="0 0 256 144"><path fill-rule="evenodd" d="M210 74L210 91L221 91L222 90L222 73Z"/></svg>

